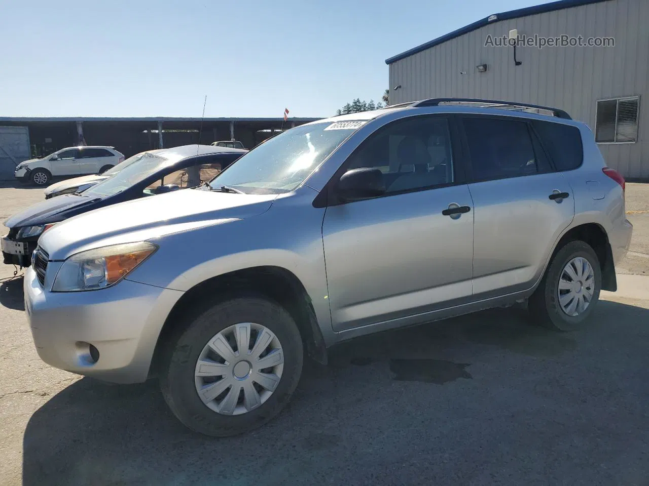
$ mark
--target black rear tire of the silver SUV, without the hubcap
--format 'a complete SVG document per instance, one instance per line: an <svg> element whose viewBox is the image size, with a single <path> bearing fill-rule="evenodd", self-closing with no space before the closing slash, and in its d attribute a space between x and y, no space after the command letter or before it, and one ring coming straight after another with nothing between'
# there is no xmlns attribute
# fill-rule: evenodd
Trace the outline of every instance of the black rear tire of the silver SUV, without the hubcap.
<svg viewBox="0 0 649 486"><path fill-rule="evenodd" d="M576 257L588 260L593 268L593 297L588 307L578 316L569 316L559 305L559 279L568 262ZM532 318L548 329L576 330L591 316L600 297L602 289L602 268L600 260L589 244L583 241L571 241L554 255L539 287L528 301L528 310Z"/></svg>

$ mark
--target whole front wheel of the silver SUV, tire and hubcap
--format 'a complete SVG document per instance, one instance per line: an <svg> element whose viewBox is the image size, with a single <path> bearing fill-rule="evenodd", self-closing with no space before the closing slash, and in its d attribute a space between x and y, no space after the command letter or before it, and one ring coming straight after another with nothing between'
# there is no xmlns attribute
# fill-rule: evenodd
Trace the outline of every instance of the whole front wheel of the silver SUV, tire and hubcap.
<svg viewBox="0 0 649 486"><path fill-rule="evenodd" d="M258 428L291 398L302 373L295 321L263 297L215 304L173 343L160 377L176 417L205 435Z"/></svg>

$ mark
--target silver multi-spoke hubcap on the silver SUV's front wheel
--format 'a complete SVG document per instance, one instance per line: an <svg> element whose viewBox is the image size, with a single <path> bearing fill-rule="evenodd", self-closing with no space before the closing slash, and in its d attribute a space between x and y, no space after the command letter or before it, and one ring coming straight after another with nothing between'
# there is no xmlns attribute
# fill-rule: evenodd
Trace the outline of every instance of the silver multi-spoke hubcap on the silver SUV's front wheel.
<svg viewBox="0 0 649 486"><path fill-rule="evenodd" d="M269 399L282 378L284 352L271 330L243 322L216 334L196 362L202 402L223 415L240 415Z"/></svg>

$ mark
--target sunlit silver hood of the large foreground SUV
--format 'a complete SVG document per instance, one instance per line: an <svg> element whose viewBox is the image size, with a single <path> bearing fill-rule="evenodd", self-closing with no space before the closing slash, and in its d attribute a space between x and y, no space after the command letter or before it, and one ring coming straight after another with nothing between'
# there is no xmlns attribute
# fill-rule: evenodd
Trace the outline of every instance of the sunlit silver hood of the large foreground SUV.
<svg viewBox="0 0 649 486"><path fill-rule="evenodd" d="M255 216L267 211L276 197L195 189L147 196L69 218L45 231L38 243L51 260L64 260L86 249L152 240Z"/></svg>

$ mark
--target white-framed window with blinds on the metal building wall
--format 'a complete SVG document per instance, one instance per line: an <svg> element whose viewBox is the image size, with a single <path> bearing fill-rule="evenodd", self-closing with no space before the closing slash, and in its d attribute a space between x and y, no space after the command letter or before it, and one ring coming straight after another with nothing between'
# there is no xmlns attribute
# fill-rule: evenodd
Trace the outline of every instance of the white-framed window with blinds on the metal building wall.
<svg viewBox="0 0 649 486"><path fill-rule="evenodd" d="M598 143L637 141L639 104L639 97L598 101L595 141Z"/></svg>

